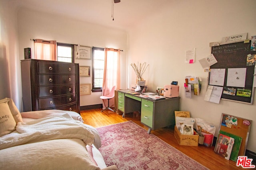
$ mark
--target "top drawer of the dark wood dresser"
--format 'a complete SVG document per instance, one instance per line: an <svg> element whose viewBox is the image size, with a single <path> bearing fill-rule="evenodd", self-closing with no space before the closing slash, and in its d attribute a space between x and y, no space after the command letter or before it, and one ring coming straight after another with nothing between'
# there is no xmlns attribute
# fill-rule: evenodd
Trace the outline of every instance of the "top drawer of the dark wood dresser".
<svg viewBox="0 0 256 170"><path fill-rule="evenodd" d="M65 63L37 63L38 74L76 74L76 66Z"/></svg>

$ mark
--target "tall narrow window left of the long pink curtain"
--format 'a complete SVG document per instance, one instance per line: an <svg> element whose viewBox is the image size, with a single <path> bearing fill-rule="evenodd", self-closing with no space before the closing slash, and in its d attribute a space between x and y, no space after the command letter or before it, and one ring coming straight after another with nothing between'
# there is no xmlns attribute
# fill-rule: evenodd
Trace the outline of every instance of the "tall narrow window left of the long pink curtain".
<svg viewBox="0 0 256 170"><path fill-rule="evenodd" d="M104 48L92 47L92 92L102 91L104 60Z"/></svg>

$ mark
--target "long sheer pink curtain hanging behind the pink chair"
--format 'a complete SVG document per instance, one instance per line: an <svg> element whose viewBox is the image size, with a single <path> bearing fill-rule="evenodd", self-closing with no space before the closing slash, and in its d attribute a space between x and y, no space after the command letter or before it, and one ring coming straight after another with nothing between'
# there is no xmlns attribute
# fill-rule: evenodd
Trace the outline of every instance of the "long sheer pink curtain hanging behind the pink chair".
<svg viewBox="0 0 256 170"><path fill-rule="evenodd" d="M116 90L120 88L120 49L105 48L104 75L102 84L102 95L108 95L113 86ZM108 100L102 101L103 108L108 106ZM109 107L115 106L115 99L109 100Z"/></svg>

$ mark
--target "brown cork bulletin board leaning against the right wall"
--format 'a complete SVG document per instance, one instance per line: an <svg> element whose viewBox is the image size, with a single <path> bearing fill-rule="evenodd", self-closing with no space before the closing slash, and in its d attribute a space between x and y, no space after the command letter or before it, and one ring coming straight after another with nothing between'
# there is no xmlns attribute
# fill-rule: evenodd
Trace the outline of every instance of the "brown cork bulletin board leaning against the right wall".
<svg viewBox="0 0 256 170"><path fill-rule="evenodd" d="M219 131L225 131L238 137L242 137L242 143L240 145L238 156L245 155L251 124L252 120L222 113Z"/></svg>

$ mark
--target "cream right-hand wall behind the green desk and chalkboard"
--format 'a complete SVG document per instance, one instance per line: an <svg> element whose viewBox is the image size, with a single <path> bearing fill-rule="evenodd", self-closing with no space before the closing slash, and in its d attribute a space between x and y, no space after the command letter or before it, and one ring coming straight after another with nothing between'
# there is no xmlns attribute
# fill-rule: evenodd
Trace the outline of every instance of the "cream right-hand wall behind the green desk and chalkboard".
<svg viewBox="0 0 256 170"><path fill-rule="evenodd" d="M254 5L252 5L254 4ZM216 134L221 114L226 113L252 120L247 149L256 152L256 95L254 104L240 104L221 100L220 104L204 101L208 73L204 72L199 59L210 55L210 42L220 42L222 37L248 33L256 35L254 0L179 0L165 10L141 21L128 33L128 86L136 82L130 64L150 64L144 75L149 90L172 81L180 85L180 110L190 111L191 116L214 123ZM185 51L196 48L193 64L186 64ZM185 98L185 76L202 78L200 96Z"/></svg>

